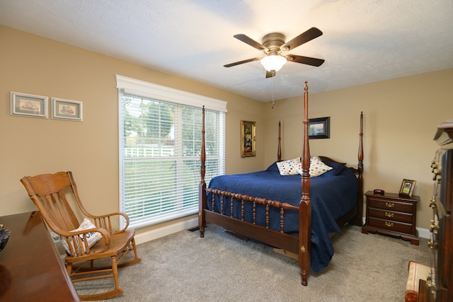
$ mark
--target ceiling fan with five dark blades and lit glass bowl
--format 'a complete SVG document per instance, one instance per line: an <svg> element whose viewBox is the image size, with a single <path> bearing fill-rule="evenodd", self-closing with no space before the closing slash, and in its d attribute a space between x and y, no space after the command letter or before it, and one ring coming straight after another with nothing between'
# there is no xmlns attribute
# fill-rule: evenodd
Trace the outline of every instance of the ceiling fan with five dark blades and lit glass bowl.
<svg viewBox="0 0 453 302"><path fill-rule="evenodd" d="M313 40L316 37L322 35L323 32L318 28L310 28L306 30L305 33L294 37L294 39L289 42L285 42L285 35L281 33L270 33L263 37L263 44L256 42L255 40L247 37L246 35L239 34L234 35L236 39L241 40L242 42L255 47L257 50L260 50L265 54L265 57L256 57L252 59L246 59L239 62L234 62L231 64L226 64L224 67L236 66L239 64L244 64L248 62L260 60L266 69L266 78L272 78L275 76L275 72L279 71L286 62L294 62L301 64L308 64L311 66L321 66L324 63L323 59L316 59L311 57L302 57L297 54L286 54L282 55L282 52L287 52L293 50L294 48Z"/></svg>

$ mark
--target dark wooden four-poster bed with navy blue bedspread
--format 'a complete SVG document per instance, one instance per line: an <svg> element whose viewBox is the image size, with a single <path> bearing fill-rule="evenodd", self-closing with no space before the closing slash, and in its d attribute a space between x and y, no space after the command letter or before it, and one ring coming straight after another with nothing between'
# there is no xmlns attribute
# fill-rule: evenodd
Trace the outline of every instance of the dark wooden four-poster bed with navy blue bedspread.
<svg viewBox="0 0 453 302"><path fill-rule="evenodd" d="M205 183L205 110L202 111L201 181L199 187L200 236L206 223L222 226L232 233L258 240L273 248L298 255L302 285L309 269L318 272L333 255L329 233L354 223L362 226L363 148L362 120L357 168L319 156L331 170L311 177L309 151L308 86L304 85L304 141L301 175L282 176L280 165L280 123L278 161L267 170L241 175L219 175ZM302 167L301 167L302 166Z"/></svg>

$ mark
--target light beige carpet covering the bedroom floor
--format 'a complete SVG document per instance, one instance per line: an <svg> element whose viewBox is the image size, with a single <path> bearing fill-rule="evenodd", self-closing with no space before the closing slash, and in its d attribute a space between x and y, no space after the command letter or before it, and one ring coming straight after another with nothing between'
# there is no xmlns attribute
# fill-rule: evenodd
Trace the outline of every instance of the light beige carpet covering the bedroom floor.
<svg viewBox="0 0 453 302"><path fill-rule="evenodd" d="M345 226L332 240L331 263L302 286L297 261L268 246L211 224L205 238L181 231L138 245L142 262L120 269L125 292L111 301L403 301L409 260L429 265L423 238L416 246ZM88 294L105 285L76 289Z"/></svg>

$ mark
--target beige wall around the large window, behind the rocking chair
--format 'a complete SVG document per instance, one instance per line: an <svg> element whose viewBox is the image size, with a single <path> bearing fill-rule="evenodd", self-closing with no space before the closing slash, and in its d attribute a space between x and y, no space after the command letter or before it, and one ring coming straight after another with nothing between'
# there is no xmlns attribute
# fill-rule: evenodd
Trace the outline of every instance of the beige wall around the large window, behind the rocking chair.
<svg viewBox="0 0 453 302"><path fill-rule="evenodd" d="M115 74L228 102L226 172L259 170L240 157L241 120L256 121L264 138L263 103L152 69L0 26L0 216L33 211L19 181L25 175L74 173L88 211L117 211L118 123ZM83 102L84 121L10 116L10 91Z"/></svg>

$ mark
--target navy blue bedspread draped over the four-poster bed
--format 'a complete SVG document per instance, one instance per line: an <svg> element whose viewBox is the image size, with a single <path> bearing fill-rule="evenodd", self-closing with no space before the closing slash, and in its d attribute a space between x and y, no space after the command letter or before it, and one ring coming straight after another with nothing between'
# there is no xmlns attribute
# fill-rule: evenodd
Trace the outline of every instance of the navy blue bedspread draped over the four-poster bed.
<svg viewBox="0 0 453 302"><path fill-rule="evenodd" d="M326 267L333 256L333 245L328 233L340 231L336 224L338 217L346 214L357 204L357 178L345 165L326 162L333 169L323 175L310 178L311 199L311 269L319 272ZM287 202L299 207L302 197L301 175L285 175L279 173L273 163L267 170L236 174L219 175L209 183L210 188L226 190L234 193L247 194L253 197L273 199ZM207 207L212 210L212 196L207 193ZM237 204L236 204L237 203ZM220 211L219 202L215 211ZM280 212L272 208L270 228L280 231ZM265 207L258 205L256 223L265 226ZM252 221L252 205L246 203L246 221ZM224 214L230 214L229 198L224 199ZM241 205L234 201L234 217L241 217ZM285 211L285 233L297 236L299 228L298 211Z"/></svg>

